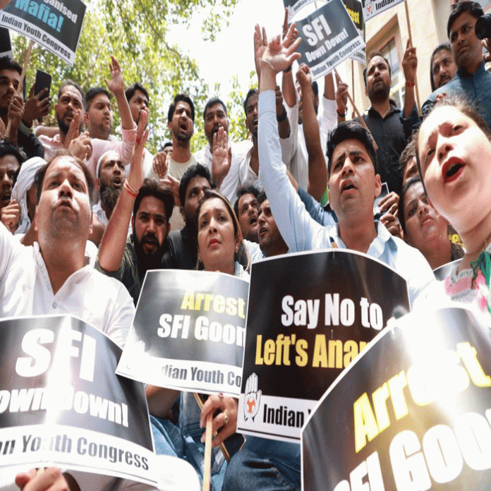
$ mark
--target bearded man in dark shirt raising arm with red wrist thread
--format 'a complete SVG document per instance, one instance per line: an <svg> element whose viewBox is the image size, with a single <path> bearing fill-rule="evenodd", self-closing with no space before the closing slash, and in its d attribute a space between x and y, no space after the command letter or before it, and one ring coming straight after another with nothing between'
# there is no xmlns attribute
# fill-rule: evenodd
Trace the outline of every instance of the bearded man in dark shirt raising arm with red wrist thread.
<svg viewBox="0 0 491 491"><path fill-rule="evenodd" d="M139 126L145 126L147 119L148 109L144 109ZM136 305L145 273L161 267L174 195L159 181L144 179L143 159L132 160L123 190L107 224L95 267L119 279ZM133 234L127 240L130 219Z"/></svg>

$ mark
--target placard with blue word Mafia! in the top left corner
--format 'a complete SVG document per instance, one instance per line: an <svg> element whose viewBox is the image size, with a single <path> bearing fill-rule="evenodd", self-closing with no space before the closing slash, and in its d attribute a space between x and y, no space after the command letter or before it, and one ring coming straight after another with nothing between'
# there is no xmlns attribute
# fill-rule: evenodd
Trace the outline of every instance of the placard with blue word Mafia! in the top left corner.
<svg viewBox="0 0 491 491"><path fill-rule="evenodd" d="M20 32L73 66L84 16L80 0L12 0L0 11L0 26Z"/></svg>

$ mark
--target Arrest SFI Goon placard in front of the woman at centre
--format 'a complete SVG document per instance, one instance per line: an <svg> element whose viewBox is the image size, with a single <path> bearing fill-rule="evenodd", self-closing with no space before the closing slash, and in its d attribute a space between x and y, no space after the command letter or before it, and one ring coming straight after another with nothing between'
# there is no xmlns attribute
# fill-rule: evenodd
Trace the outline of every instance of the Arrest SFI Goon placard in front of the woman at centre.
<svg viewBox="0 0 491 491"><path fill-rule="evenodd" d="M159 387L238 395L248 282L229 274L148 271L117 373Z"/></svg>

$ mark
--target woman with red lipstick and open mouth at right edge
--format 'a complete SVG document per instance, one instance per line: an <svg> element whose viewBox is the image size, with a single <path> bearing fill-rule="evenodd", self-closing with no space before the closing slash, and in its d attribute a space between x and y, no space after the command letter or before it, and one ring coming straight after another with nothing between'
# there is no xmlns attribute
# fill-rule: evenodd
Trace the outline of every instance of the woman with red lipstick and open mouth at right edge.
<svg viewBox="0 0 491 491"><path fill-rule="evenodd" d="M417 140L430 202L454 226L466 253L445 280L456 301L490 311L491 132L468 103L444 98L423 121Z"/></svg>

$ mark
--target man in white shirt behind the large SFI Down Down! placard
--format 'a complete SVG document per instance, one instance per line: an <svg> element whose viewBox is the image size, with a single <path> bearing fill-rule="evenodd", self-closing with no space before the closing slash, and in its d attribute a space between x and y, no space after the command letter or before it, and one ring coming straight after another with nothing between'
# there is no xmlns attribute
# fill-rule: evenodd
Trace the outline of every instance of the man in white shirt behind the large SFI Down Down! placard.
<svg viewBox="0 0 491 491"><path fill-rule="evenodd" d="M0 317L71 314L123 347L134 313L123 284L85 265L93 180L70 154L37 174L38 241L25 247L0 225Z"/></svg>

